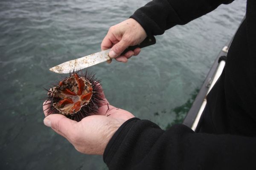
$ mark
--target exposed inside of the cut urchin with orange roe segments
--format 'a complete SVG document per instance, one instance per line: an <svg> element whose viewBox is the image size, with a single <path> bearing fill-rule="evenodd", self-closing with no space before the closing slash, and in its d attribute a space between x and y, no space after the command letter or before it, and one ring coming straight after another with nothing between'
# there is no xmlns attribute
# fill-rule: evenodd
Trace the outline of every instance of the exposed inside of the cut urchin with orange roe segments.
<svg viewBox="0 0 256 170"><path fill-rule="evenodd" d="M59 82L56 96L60 98L55 107L63 114L73 114L81 109L82 105L87 105L93 95L91 83L78 74Z"/></svg>

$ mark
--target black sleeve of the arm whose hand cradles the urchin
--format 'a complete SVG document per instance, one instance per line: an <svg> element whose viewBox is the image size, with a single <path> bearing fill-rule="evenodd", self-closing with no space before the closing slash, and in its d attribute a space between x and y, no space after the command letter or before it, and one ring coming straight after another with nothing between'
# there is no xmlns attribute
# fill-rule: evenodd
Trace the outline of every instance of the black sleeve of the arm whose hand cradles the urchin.
<svg viewBox="0 0 256 170"><path fill-rule="evenodd" d="M256 138L194 133L185 125L164 131L132 118L114 134L103 159L110 170L256 169Z"/></svg>

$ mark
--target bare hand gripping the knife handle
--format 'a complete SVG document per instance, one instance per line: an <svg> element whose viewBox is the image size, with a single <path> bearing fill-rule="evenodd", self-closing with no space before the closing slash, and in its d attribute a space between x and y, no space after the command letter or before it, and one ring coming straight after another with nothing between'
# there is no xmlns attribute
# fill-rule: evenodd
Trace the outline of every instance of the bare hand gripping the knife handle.
<svg viewBox="0 0 256 170"><path fill-rule="evenodd" d="M116 58L116 61L127 62L133 55L140 53L140 48L128 51L119 56L128 46L138 45L147 37L143 27L134 19L130 18L108 30L108 34L102 40L101 49L111 48L109 57Z"/></svg>

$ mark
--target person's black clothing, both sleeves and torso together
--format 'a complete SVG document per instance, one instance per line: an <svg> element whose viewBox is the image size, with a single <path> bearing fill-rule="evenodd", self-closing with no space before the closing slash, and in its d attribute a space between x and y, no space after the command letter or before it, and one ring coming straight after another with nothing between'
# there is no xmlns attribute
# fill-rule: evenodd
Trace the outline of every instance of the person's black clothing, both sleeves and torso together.
<svg viewBox="0 0 256 170"><path fill-rule="evenodd" d="M131 17L147 34L163 34L227 0L153 0ZM207 97L201 132L185 125L162 130L138 118L126 121L108 143L110 170L256 169L256 0L247 0L220 79Z"/></svg>

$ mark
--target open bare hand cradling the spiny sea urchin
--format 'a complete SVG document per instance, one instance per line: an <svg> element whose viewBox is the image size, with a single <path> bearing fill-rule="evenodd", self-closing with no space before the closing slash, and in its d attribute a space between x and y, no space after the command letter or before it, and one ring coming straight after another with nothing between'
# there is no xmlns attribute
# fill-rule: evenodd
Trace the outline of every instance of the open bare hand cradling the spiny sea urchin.
<svg viewBox="0 0 256 170"><path fill-rule="evenodd" d="M44 119L44 124L65 137L79 152L102 155L116 130L134 117L128 111L109 105L104 94L102 97L104 100L97 115L76 122L61 114L51 114ZM43 105L45 116L49 107L46 102Z"/></svg>

